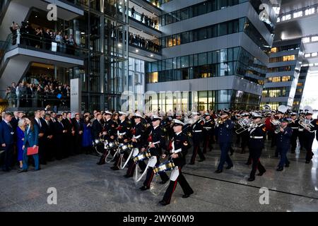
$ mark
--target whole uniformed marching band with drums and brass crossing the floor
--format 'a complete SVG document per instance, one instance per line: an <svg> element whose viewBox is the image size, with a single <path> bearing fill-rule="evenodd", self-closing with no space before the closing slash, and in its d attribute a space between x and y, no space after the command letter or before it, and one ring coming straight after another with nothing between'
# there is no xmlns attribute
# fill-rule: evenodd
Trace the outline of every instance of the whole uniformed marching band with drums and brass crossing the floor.
<svg viewBox="0 0 318 226"><path fill-rule="evenodd" d="M151 189L151 183L156 175L160 176L160 186L167 187L163 206L170 203L173 192L179 182L184 195L188 198L194 191L188 184L182 168L186 165L186 155L192 148L190 165L195 164L196 155L199 162L206 160L207 150L213 149L213 143L218 141L220 147L220 162L216 173L233 167L229 153L233 152L232 141L242 143L242 152L249 149L247 165L252 165L249 182L262 176L266 169L261 165L261 153L264 141L271 139L271 146L276 145L275 155L280 156L277 171L289 167L287 153L295 153L297 139L300 148L305 148L308 164L312 160L312 143L314 131L318 129L317 119L312 118L313 110L306 106L299 112L289 112L281 105L273 111L266 105L263 111L242 112L223 109L219 114L211 112L192 112L182 114L135 114L117 113L119 119L113 117L113 112L95 114L93 121L93 145L100 155L98 165L112 163L113 170L126 169L125 178L134 178L136 182L144 179L141 191ZM203 141L203 150L201 150ZM139 170L141 175L139 175ZM169 176L167 172L170 172ZM136 177L134 177L134 175Z"/></svg>

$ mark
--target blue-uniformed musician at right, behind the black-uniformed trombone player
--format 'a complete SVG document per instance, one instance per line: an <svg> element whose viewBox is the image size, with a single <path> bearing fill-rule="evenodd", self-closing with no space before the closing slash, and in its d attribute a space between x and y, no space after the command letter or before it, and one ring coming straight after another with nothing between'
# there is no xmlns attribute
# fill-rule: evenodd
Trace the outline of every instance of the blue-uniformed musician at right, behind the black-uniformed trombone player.
<svg viewBox="0 0 318 226"><path fill-rule="evenodd" d="M293 129L288 127L288 119L281 119L281 127L279 133L276 134L277 151L281 155L281 160L278 163L277 171L283 171L285 167L289 167L287 153L290 148L290 138L293 135Z"/></svg>

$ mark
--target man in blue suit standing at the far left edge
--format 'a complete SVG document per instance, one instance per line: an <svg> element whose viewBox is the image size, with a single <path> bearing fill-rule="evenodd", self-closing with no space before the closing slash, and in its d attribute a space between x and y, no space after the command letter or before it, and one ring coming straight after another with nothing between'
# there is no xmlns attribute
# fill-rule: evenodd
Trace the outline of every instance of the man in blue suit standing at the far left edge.
<svg viewBox="0 0 318 226"><path fill-rule="evenodd" d="M10 121L12 119L11 114L4 114L4 120L0 123L0 145L4 148L4 172L11 170L12 160L13 160L13 126L11 126Z"/></svg>

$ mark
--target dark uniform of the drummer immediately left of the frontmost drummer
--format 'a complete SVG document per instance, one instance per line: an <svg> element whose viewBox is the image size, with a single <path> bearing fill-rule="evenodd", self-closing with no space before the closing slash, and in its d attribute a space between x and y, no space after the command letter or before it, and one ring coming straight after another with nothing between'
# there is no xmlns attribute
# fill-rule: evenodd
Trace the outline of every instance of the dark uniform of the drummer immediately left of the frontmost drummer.
<svg viewBox="0 0 318 226"><path fill-rule="evenodd" d="M160 126L151 129L151 135L148 138L148 141L155 145L155 148L149 148L149 152L151 153L151 156L157 157L157 164L155 166L158 166L160 164L160 156L163 155L162 149L166 149L165 135ZM143 182L143 186L140 188L142 191L150 188L151 182L153 181L153 176L153 167L148 167L145 182ZM160 174L160 177L163 182L167 182L169 179L167 174Z"/></svg>

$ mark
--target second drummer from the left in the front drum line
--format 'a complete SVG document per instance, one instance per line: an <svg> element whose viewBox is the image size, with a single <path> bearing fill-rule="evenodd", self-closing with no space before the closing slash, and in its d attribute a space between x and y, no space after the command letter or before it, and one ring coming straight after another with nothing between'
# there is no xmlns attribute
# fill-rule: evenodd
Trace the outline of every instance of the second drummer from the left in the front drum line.
<svg viewBox="0 0 318 226"><path fill-rule="evenodd" d="M127 114L125 112L119 112L119 126L117 128L117 138L118 138L118 143L123 144L127 143L129 139L131 139L131 121L126 119ZM124 156L117 155L115 157L115 162L114 166L111 167L113 170L119 170L119 162L122 160L122 158L127 158L128 154L124 153Z"/></svg>

